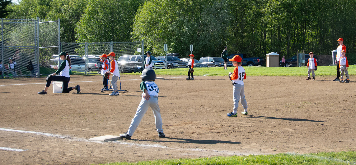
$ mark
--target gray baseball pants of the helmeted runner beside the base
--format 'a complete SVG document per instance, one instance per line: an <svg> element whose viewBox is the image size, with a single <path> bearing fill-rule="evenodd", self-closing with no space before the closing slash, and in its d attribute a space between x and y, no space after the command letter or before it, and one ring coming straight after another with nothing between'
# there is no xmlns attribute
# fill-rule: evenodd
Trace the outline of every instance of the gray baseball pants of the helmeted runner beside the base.
<svg viewBox="0 0 356 165"><path fill-rule="evenodd" d="M127 134L132 136L133 133L136 131L136 128L140 124L142 117L146 114L148 107L151 107L153 114L155 115L155 123L157 132L163 132L162 129L162 118L161 118L161 109L158 105L158 96L150 95L150 100L145 100L144 98L141 99L140 105L137 107L136 115L133 117L129 131Z"/></svg>

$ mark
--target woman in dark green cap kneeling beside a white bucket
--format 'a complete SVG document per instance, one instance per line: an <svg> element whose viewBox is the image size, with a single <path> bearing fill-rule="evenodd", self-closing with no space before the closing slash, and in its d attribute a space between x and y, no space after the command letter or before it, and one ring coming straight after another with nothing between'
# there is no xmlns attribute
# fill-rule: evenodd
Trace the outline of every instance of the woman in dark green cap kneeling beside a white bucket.
<svg viewBox="0 0 356 165"><path fill-rule="evenodd" d="M77 85L75 87L68 88L68 83L70 80L70 76L69 76L70 57L69 57L69 55L66 52L62 52L61 54L59 54L59 58L61 58L61 60L63 60L63 62L61 63L61 66L59 66L59 68L58 68L58 66L53 67L54 69L57 69L57 71L47 77L47 79L46 79L47 83L46 83L45 89L43 89L41 92L38 92L38 94L47 94L47 89L48 89L49 85L51 85L51 81L62 81L63 82L62 93L69 93L73 89L76 89L77 93L80 93L79 85ZM59 73L59 76L56 76L58 73Z"/></svg>

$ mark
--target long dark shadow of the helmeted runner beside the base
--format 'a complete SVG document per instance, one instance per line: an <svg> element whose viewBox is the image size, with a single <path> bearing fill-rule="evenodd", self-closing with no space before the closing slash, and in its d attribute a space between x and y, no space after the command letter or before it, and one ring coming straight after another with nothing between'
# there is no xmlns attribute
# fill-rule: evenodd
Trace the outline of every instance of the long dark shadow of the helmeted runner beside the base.
<svg viewBox="0 0 356 165"><path fill-rule="evenodd" d="M163 139L174 139L178 141L165 141ZM140 141L149 141L149 142L168 142L168 143L193 143L193 144L218 144L218 143L226 143L226 144L241 144L240 142L231 142L231 141L218 141L218 140L194 140L194 139L183 139L183 138L171 138L165 137L162 140L154 141L154 140L140 140Z"/></svg>

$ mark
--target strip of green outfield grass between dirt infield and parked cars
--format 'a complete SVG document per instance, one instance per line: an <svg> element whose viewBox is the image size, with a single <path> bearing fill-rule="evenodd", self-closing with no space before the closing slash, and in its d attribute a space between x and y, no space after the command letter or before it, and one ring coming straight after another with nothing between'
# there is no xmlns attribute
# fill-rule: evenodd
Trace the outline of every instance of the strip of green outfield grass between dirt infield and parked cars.
<svg viewBox="0 0 356 165"><path fill-rule="evenodd" d="M235 67L209 67L194 68L194 76L226 76L233 72ZM308 75L306 67L244 67L247 76L305 76ZM356 65L350 65L349 75L355 75ZM156 75L187 76L188 68L155 70ZM122 75L141 75L141 73L121 73ZM319 66L315 71L316 76L335 76L336 66Z"/></svg>

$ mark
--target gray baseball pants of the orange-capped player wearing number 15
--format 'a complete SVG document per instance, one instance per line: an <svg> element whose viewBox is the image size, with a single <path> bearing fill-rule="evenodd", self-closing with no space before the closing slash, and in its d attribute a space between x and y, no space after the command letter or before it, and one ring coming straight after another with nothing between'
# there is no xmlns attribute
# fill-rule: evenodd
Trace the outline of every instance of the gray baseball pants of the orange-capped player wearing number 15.
<svg viewBox="0 0 356 165"><path fill-rule="evenodd" d="M247 112L247 101L245 99L245 86L241 84L234 84L232 90L232 100L234 100L234 114L237 113L237 108L239 107L239 101L241 99L241 104L244 110Z"/></svg>

